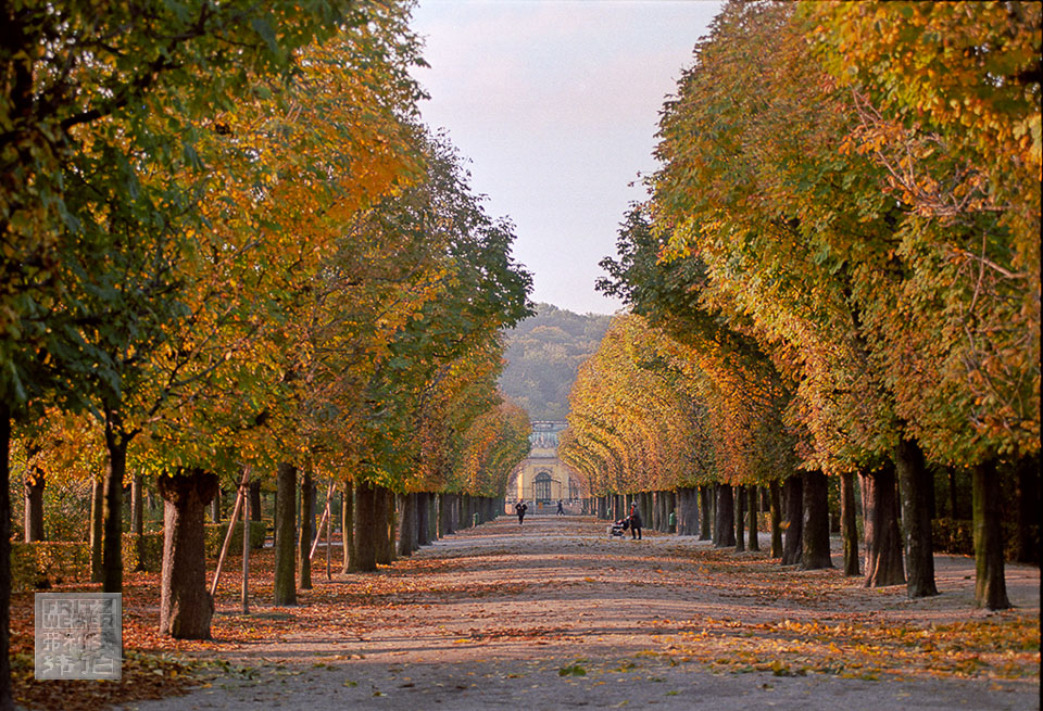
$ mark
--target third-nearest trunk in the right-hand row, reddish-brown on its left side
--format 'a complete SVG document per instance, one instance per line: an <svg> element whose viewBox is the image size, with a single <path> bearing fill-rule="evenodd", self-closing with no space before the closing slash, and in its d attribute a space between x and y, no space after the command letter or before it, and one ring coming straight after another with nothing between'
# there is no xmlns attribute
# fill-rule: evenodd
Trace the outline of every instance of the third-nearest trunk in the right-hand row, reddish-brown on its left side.
<svg viewBox="0 0 1043 711"><path fill-rule="evenodd" d="M866 587L905 583L902 569L902 534L894 469L884 467L862 477L865 498Z"/></svg>

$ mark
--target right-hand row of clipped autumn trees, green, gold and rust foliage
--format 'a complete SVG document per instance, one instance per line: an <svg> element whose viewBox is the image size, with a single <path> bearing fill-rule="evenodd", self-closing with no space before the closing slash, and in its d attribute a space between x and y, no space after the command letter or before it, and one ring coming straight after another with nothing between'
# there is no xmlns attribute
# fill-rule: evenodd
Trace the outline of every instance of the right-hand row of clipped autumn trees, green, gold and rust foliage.
<svg viewBox="0 0 1043 711"><path fill-rule="evenodd" d="M803 470L805 521L857 473L867 583L913 597L937 594L928 464L967 469L977 601L1007 607L1001 468L1038 509L1039 27L1017 2L726 5L600 284L655 327L610 335L668 419L580 382L569 460L649 472L603 492Z"/></svg>

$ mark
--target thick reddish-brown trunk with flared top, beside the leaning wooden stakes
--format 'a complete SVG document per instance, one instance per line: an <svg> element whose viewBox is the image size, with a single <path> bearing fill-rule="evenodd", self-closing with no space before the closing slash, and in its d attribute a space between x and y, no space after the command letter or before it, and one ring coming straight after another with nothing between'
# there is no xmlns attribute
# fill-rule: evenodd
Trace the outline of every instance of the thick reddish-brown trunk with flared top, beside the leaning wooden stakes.
<svg viewBox="0 0 1043 711"><path fill-rule="evenodd" d="M160 634L177 639L209 639L214 599L206 589L206 546L203 511L217 492L217 477L160 477L163 497L163 573L160 591Z"/></svg>

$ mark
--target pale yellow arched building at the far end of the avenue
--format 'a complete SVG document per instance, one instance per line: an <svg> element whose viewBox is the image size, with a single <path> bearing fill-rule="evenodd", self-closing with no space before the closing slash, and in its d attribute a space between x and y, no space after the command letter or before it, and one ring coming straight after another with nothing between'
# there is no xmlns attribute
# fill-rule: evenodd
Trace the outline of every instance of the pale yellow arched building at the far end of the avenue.
<svg viewBox="0 0 1043 711"><path fill-rule="evenodd" d="M556 510L557 503L569 503L589 496L581 478L557 458L557 433L565 422L533 422L529 435L529 457L522 461L507 483L507 511L519 498L529 505L529 512ZM513 498L513 500L512 500Z"/></svg>

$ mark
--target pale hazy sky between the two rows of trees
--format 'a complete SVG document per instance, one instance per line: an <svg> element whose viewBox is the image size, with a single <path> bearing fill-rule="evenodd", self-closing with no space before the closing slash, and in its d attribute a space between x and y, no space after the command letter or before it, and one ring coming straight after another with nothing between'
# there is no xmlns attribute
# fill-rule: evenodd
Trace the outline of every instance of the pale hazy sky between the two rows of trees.
<svg viewBox="0 0 1043 711"><path fill-rule="evenodd" d="M430 69L425 122L470 160L486 211L516 226L532 299L577 313L615 255L630 187L655 169L658 112L720 2L420 0L413 28Z"/></svg>

